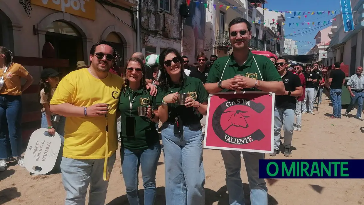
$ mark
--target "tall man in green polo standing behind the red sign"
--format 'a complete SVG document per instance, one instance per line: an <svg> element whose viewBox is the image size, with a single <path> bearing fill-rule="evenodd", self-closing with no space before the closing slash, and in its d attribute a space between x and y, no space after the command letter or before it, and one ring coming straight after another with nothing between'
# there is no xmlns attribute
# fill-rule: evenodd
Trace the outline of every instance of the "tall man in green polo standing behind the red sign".
<svg viewBox="0 0 364 205"><path fill-rule="evenodd" d="M267 57L255 55L249 50L252 25L243 18L235 18L229 23L229 38L233 53L218 58L210 69L205 88L213 94L226 91L263 91L278 95L285 93L284 84L276 67ZM240 74L240 76L235 76ZM258 122L257 122L258 123ZM226 169L226 186L230 205L243 205L244 192L240 177L240 151L221 150ZM252 205L268 204L268 189L265 180L258 176L259 159L264 153L243 152L250 186Z"/></svg>

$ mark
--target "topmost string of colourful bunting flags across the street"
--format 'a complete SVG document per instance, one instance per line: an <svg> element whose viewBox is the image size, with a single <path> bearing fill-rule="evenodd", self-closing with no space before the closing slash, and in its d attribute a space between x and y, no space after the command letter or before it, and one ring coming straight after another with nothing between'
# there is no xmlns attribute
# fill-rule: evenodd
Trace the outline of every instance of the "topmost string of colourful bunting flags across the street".
<svg viewBox="0 0 364 205"><path fill-rule="evenodd" d="M186 0L186 3L187 3L188 6L190 5L191 2L195 2L197 6L200 3L201 4L204 4L205 8L207 8L207 5L209 4L209 3L202 3L201 1ZM251 3L251 4L255 4L255 3ZM230 7L234 8L234 9L236 9L236 8L245 8L245 7L234 6L234 5L230 5L230 6L228 6L228 5L222 5L222 4L212 4L212 5L213 5L214 9L216 9L216 6L219 6L219 8L226 7L226 10L229 9ZM253 7L253 8L248 8L248 9L257 9L257 8ZM284 10L274 10L274 9L268 9L268 8L263 8L263 10L275 11L277 13L278 12L281 12L281 13L291 13L291 14L293 14L292 17L285 17L285 18L298 17L298 16L300 16L301 13L303 13L302 16L305 16L305 13L308 13L308 15L314 15L314 14L323 15L324 13L328 13L328 15L330 15L330 13L332 13L332 14L336 14L336 13L339 14L339 13L341 13L341 10L340 9L339 10L333 10L333 11L308 11L308 12L305 12L305 11L284 11ZM297 14L297 16L296 16L296 14ZM302 16L300 16L300 17L302 17Z"/></svg>

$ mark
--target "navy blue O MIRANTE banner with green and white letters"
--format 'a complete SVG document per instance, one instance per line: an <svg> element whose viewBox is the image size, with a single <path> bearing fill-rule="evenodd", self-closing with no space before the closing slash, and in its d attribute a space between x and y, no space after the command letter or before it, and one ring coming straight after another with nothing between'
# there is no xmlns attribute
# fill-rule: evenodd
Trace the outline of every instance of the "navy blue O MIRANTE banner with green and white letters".
<svg viewBox="0 0 364 205"><path fill-rule="evenodd" d="M259 178L363 179L364 159L260 159Z"/></svg>

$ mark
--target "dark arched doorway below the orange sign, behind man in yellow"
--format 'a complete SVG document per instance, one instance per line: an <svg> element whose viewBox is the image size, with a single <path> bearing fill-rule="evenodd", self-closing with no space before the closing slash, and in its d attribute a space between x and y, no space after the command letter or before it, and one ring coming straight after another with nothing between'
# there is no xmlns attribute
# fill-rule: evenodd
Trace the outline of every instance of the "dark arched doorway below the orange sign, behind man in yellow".
<svg viewBox="0 0 364 205"><path fill-rule="evenodd" d="M46 27L46 43L51 43L54 47L55 56L43 56L43 58L68 59L69 67L58 68L63 76L76 70L77 61L83 61L82 35L65 21L56 20Z"/></svg>

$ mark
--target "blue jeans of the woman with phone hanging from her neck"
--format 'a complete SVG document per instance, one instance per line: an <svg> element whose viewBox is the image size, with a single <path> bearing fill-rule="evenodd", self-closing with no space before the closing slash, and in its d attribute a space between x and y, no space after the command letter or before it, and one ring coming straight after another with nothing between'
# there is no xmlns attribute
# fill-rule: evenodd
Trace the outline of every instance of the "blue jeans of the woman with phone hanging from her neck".
<svg viewBox="0 0 364 205"><path fill-rule="evenodd" d="M126 196L130 205L139 205L138 197L138 173L142 166L144 186L144 204L153 205L157 189L155 187L155 174L159 156L161 156L161 144L150 146L146 150L128 150L123 146L120 149L121 167L126 187Z"/></svg>

